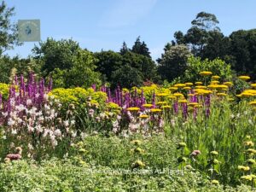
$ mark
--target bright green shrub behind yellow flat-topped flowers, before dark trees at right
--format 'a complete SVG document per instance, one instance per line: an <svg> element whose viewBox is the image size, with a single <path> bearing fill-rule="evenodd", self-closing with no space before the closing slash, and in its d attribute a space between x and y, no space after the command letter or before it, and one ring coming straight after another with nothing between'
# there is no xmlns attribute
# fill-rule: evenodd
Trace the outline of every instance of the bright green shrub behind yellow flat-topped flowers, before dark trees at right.
<svg viewBox="0 0 256 192"><path fill-rule="evenodd" d="M202 71L210 71L225 80L230 80L233 76L230 65L220 59L201 61L201 58L191 56L188 59L188 67L180 78L183 82L204 81L206 78L199 74Z"/></svg>

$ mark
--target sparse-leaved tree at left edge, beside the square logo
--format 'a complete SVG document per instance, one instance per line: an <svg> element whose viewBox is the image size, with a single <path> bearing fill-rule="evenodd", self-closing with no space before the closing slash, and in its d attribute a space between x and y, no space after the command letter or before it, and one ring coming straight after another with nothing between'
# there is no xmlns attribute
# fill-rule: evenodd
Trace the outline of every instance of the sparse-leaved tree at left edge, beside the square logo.
<svg viewBox="0 0 256 192"><path fill-rule="evenodd" d="M8 8L3 1L0 4L0 56L4 51L13 49L15 45L20 45L17 24L10 21L13 15L15 15L15 8Z"/></svg>

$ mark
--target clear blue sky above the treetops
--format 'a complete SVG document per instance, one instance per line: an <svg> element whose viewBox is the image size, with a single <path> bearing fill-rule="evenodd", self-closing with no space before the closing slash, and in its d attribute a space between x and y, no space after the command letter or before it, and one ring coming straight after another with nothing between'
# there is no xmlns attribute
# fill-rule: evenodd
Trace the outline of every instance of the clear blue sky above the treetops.
<svg viewBox="0 0 256 192"><path fill-rule="evenodd" d="M256 28L254 0L6 0L15 6L12 20L39 19L41 39L73 38L91 51L119 51L138 36L148 44L154 59L160 57L173 33L186 32L201 11L219 20L224 35L239 29ZM34 44L25 43L7 54L31 55Z"/></svg>

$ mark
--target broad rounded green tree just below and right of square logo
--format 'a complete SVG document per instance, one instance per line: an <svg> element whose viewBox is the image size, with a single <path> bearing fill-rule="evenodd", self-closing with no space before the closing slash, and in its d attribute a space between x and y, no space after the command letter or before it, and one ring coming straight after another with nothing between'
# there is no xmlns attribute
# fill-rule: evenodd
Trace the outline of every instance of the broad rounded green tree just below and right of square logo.
<svg viewBox="0 0 256 192"><path fill-rule="evenodd" d="M32 49L35 59L43 62L42 73L52 76L55 87L89 87L100 83L96 58L72 39L55 41L48 38Z"/></svg>

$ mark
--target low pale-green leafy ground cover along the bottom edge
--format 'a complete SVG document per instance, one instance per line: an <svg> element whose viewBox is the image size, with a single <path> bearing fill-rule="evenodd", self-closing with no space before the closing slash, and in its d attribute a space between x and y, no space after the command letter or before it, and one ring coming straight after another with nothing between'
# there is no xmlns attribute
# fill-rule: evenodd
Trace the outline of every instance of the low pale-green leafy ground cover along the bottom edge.
<svg viewBox="0 0 256 192"><path fill-rule="evenodd" d="M3 192L223 191L221 186L208 183L196 172L125 174L104 166L76 166L71 160L49 160L41 165L17 161L2 164L0 169L0 189Z"/></svg>

